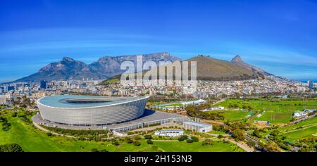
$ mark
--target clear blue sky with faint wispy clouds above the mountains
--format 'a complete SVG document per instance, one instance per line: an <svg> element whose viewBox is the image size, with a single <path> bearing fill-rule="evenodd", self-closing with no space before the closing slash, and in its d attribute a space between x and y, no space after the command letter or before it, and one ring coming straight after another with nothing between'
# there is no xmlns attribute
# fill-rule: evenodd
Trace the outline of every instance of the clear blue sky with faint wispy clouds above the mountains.
<svg viewBox="0 0 317 166"><path fill-rule="evenodd" d="M168 51L247 62L317 79L317 1L0 1L0 82L64 56Z"/></svg>

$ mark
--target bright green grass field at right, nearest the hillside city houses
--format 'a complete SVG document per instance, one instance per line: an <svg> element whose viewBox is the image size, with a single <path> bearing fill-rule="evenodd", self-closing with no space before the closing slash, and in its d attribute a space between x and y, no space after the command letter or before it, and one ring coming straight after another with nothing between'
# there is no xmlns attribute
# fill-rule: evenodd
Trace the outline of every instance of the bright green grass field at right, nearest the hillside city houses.
<svg viewBox="0 0 317 166"><path fill-rule="evenodd" d="M251 107L252 110L265 111L261 117L256 117L254 120L271 121L273 124L287 123L292 120L292 113L296 110L316 109L317 101L302 101L300 99L276 99L275 101L256 100L256 99L228 99L216 106L237 105L239 108Z"/></svg>

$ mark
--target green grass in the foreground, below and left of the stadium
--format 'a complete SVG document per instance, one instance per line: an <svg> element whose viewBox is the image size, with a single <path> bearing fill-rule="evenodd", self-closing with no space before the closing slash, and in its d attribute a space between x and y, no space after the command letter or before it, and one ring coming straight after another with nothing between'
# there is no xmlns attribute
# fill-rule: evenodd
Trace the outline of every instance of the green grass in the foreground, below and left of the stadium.
<svg viewBox="0 0 317 166"><path fill-rule="evenodd" d="M0 144L18 143L24 151L32 152L80 152L106 149L113 152L133 152L133 151L242 151L232 143L215 141L213 146L201 146L201 142L156 142L154 146L147 145L145 140L139 141L140 146L134 146L120 142L120 146L113 146L109 141L79 141L63 136L47 136L45 132L25 124L18 117L8 117L11 129L4 132L0 129ZM155 148L157 146L157 148Z"/></svg>

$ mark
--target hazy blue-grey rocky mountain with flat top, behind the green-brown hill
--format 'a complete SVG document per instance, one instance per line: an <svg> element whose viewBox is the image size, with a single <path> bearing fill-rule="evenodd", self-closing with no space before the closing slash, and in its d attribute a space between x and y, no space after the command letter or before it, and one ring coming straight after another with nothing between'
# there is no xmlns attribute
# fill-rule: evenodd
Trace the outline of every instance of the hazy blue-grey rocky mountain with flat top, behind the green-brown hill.
<svg viewBox="0 0 317 166"><path fill-rule="evenodd" d="M50 63L41 68L37 73L17 79L14 82L39 82L41 80L80 80L80 79L108 79L113 75L118 75L124 70L120 70L120 64L125 60L130 60L136 64L137 56L142 56L143 61L152 60L156 64L159 61L175 61L180 58L170 56L169 53L151 53L134 56L104 56L97 62L87 65L73 58L64 57L59 62ZM136 66L136 65L135 65Z"/></svg>

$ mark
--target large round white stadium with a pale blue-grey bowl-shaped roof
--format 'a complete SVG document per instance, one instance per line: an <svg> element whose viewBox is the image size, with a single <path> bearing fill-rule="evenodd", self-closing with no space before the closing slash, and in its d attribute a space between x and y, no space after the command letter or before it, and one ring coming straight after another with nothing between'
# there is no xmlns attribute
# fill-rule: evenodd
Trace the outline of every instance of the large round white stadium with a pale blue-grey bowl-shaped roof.
<svg viewBox="0 0 317 166"><path fill-rule="evenodd" d="M60 125L102 126L136 120L144 114L148 96L45 96L37 106L42 120Z"/></svg>

